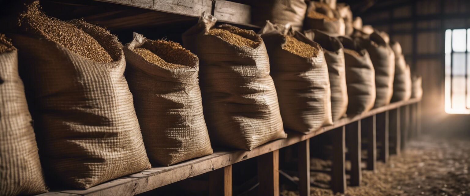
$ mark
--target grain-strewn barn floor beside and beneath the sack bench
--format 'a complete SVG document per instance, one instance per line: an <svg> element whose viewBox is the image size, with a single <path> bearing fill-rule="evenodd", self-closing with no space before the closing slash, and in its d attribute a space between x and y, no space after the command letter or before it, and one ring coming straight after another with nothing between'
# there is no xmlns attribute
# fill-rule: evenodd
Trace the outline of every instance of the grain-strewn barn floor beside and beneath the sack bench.
<svg viewBox="0 0 470 196"><path fill-rule="evenodd" d="M328 168L329 161L312 159L312 168ZM377 171L362 171L360 187L348 187L345 196L470 196L470 138L423 136L411 141ZM312 196L333 196L330 176L312 172ZM282 196L298 196L283 186ZM336 196L342 194L337 193Z"/></svg>

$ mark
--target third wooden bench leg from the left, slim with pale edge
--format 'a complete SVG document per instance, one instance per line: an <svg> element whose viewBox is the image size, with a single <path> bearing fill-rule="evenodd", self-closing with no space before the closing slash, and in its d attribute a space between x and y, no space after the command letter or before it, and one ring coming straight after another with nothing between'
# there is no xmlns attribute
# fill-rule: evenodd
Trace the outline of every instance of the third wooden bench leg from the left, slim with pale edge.
<svg viewBox="0 0 470 196"><path fill-rule="evenodd" d="M310 139L298 142L298 192L310 196Z"/></svg>

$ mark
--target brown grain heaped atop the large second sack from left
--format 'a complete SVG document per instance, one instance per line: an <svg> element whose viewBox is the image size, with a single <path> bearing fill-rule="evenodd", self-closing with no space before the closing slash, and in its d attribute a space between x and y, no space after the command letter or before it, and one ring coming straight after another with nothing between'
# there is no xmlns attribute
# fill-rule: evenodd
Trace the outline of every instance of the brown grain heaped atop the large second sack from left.
<svg viewBox="0 0 470 196"><path fill-rule="evenodd" d="M26 33L40 36L66 47L87 59L100 63L109 63L113 59L108 52L86 32L77 26L46 16L40 9L37 1L27 7L19 20L19 26Z"/></svg>

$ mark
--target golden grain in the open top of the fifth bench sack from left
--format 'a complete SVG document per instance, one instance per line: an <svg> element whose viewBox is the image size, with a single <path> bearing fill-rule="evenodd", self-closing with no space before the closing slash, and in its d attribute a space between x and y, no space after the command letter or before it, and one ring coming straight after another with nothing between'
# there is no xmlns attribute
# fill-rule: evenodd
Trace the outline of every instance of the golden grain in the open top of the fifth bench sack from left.
<svg viewBox="0 0 470 196"><path fill-rule="evenodd" d="M295 39L292 36L284 36L286 42L282 45L282 49L287 50L293 54L310 58L315 57L318 53L318 49L312 47L298 39Z"/></svg>

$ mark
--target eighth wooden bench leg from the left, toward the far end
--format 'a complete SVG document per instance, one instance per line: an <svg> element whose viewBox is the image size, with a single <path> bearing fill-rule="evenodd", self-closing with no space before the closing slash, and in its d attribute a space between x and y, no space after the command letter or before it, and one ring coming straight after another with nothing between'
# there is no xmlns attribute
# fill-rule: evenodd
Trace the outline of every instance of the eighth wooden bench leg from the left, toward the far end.
<svg viewBox="0 0 470 196"><path fill-rule="evenodd" d="M400 109L389 111L389 132L392 153L400 155L401 153L401 128L400 128Z"/></svg>

